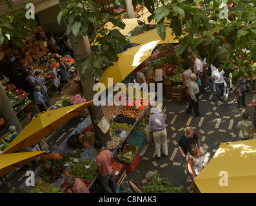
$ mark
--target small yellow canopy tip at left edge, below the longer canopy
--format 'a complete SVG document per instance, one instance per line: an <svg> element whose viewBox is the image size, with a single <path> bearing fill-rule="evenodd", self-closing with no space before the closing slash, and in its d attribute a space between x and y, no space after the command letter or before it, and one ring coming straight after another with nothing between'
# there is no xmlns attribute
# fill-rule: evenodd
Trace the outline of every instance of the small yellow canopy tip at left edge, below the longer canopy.
<svg viewBox="0 0 256 206"><path fill-rule="evenodd" d="M22 167L26 163L35 160L39 156L46 154L46 151L28 153L10 153L0 155L0 176Z"/></svg>

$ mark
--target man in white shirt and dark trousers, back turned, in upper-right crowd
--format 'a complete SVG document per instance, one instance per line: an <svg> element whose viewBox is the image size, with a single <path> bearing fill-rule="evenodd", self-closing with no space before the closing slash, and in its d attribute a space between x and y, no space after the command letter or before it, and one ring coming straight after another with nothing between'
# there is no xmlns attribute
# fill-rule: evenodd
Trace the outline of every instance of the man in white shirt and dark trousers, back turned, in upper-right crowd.
<svg viewBox="0 0 256 206"><path fill-rule="evenodd" d="M219 71L219 67L221 66L221 63L216 62L213 64L215 66L216 70L212 72L212 79L215 82L215 87L216 87L216 93L217 93L217 102L221 103L221 98L224 98L224 71L221 70Z"/></svg>

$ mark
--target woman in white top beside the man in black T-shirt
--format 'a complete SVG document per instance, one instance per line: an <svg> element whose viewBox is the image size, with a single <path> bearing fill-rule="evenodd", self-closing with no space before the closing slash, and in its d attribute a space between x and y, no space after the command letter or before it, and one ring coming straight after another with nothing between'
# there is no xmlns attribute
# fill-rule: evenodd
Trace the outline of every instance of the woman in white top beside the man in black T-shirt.
<svg viewBox="0 0 256 206"><path fill-rule="evenodd" d="M188 162L188 172L192 178L191 189L193 193L197 193L197 185L195 185L194 178L202 171L202 153L197 149L194 144L188 147L188 154L186 160Z"/></svg>

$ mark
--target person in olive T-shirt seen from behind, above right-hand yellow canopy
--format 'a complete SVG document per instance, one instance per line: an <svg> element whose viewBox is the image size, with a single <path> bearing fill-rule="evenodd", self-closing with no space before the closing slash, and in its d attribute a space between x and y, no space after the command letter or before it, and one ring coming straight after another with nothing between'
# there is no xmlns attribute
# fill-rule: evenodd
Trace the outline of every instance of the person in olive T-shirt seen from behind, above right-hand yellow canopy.
<svg viewBox="0 0 256 206"><path fill-rule="evenodd" d="M250 136L254 139L254 126L251 122L248 122L249 114L244 113L242 115L243 120L237 124L237 132L239 133L239 141L248 140Z"/></svg>

